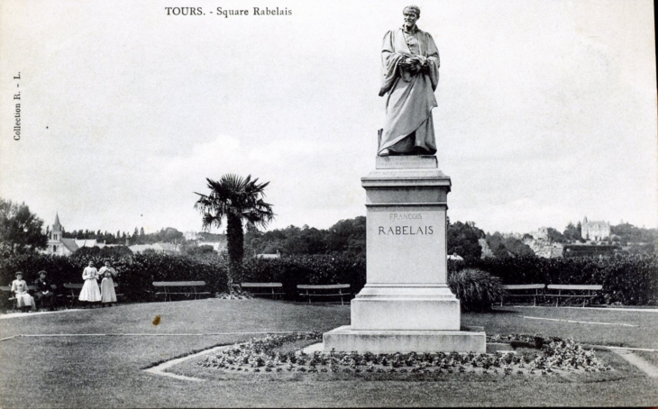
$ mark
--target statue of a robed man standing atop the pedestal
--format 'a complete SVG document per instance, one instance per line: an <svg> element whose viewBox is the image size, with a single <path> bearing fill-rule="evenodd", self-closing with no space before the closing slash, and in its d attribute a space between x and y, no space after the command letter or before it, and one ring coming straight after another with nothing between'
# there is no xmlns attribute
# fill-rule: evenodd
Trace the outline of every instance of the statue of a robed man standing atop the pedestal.
<svg viewBox="0 0 658 409"><path fill-rule="evenodd" d="M420 9L405 7L405 23L387 32L381 50L386 95L386 123L379 138L379 156L434 155L432 108L439 84L439 50L428 32L416 27Z"/></svg>

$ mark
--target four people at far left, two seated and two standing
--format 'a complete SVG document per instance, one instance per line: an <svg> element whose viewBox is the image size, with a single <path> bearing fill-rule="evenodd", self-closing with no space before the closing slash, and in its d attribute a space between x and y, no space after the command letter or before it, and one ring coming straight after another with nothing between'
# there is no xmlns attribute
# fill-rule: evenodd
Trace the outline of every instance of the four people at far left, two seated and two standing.
<svg viewBox="0 0 658 409"><path fill-rule="evenodd" d="M94 267L94 261L89 261L89 265L82 272L82 279L85 284L82 286L78 299L87 303L87 307L91 303L100 302L104 307L105 305L111 306L116 304L116 293L114 292L114 277L117 276L116 270L111 266L109 260L105 260L105 266L100 270ZM16 273L16 279L12 281L12 294L16 298L16 304L22 311L36 311L36 301L41 305L49 305L50 311L55 309L55 295L52 292L52 283L47 277L46 271L39 272L39 278L34 281L34 296L30 295L27 282L23 280L23 272ZM100 287L98 286L98 279L103 277Z"/></svg>

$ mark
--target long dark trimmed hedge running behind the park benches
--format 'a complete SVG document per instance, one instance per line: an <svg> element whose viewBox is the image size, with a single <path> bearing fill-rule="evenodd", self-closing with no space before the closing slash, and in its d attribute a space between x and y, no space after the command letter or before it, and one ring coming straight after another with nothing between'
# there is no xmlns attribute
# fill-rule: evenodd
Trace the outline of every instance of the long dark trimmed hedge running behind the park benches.
<svg viewBox="0 0 658 409"><path fill-rule="evenodd" d="M41 269L61 288L63 283L82 283L82 270L94 256L16 255L0 259L0 284L9 285L16 271L32 282ZM228 263L221 258L193 259L163 254L135 254L112 258L119 271L116 281L130 301L148 301L152 281L204 280L207 291L227 291ZM477 268L499 277L503 284L602 284L602 304L658 305L658 257L618 255L610 259L516 258L451 261L449 275L464 268ZM493 277L495 278L495 277ZM280 259L245 259L235 282L281 282L288 299L297 297L298 284L350 284L356 294L366 283L363 256L314 255ZM453 291L455 291L453 289Z"/></svg>

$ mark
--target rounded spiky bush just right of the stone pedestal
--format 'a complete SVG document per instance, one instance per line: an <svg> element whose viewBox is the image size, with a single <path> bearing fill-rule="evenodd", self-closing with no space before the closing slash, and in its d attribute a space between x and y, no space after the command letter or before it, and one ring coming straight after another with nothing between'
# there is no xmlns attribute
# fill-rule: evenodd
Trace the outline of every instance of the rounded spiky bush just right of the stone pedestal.
<svg viewBox="0 0 658 409"><path fill-rule="evenodd" d="M448 286L463 311L487 311L506 294L500 278L477 268L464 268L448 275Z"/></svg>

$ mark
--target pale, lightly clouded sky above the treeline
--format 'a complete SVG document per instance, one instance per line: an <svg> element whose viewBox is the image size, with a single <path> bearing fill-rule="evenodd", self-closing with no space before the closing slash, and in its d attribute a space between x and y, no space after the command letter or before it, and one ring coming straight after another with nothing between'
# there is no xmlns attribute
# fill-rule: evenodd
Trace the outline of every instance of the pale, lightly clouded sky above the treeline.
<svg viewBox="0 0 658 409"><path fill-rule="evenodd" d="M0 197L68 231L200 231L195 192L234 173L270 182L270 229L365 215L381 41L407 1L165 5L0 2ZM416 5L441 56L433 114L452 221L656 227L653 2Z"/></svg>

